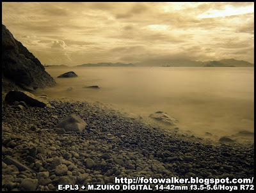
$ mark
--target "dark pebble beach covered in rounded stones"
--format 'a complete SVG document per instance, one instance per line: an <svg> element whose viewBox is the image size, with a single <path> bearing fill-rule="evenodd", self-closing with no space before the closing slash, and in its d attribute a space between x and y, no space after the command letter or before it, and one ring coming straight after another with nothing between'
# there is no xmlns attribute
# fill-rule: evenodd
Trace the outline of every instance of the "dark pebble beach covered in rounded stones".
<svg viewBox="0 0 256 193"><path fill-rule="evenodd" d="M166 132L95 102L52 100L55 109L20 110L2 105L2 190L35 190L58 184L115 184L118 178L251 178L254 143L205 144L177 130ZM80 133L54 129L76 114L88 125ZM19 171L5 157L36 171ZM28 185L29 186L29 185ZM36 187L36 188L35 188Z"/></svg>

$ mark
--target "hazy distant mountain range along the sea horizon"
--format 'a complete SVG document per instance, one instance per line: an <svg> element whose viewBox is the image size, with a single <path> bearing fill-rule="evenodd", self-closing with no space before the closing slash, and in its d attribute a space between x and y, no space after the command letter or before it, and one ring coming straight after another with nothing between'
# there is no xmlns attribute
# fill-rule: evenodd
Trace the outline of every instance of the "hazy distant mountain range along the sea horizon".
<svg viewBox="0 0 256 193"><path fill-rule="evenodd" d="M189 59L184 60L163 60L151 59L150 61L143 61L141 63L87 63L78 66L170 66L170 67L253 67L252 63L237 59L221 59L219 61L192 61Z"/></svg>

